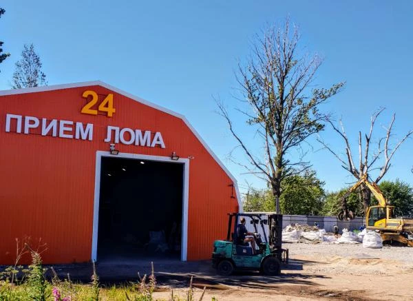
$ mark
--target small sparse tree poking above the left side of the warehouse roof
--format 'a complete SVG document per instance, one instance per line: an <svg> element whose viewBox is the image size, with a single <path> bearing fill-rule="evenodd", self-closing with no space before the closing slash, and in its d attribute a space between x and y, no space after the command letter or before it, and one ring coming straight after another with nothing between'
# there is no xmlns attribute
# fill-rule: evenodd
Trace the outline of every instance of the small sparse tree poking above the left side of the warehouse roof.
<svg viewBox="0 0 413 301"><path fill-rule="evenodd" d="M47 85L46 75L41 70L41 66L40 56L34 51L33 44L24 45L21 60L16 63L16 70L13 73L12 88Z"/></svg>

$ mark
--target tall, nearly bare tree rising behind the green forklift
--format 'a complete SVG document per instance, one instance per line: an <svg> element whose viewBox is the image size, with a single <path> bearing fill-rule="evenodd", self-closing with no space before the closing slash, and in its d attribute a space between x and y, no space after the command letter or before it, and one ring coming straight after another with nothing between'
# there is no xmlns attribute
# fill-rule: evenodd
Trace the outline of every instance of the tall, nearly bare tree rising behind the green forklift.
<svg viewBox="0 0 413 301"><path fill-rule="evenodd" d="M249 164L243 166L266 180L277 213L282 181L309 167L303 156L293 160L290 151L324 129L326 115L319 112L319 105L343 86L338 83L329 89L311 90L310 84L323 60L317 55L299 56L298 42L299 32L295 26L291 30L287 19L282 28L271 26L262 32L262 37L257 35L246 66L238 65L237 82L247 107L241 112L248 125L257 125L262 153L244 143L223 103L217 101L220 114L248 158Z"/></svg>

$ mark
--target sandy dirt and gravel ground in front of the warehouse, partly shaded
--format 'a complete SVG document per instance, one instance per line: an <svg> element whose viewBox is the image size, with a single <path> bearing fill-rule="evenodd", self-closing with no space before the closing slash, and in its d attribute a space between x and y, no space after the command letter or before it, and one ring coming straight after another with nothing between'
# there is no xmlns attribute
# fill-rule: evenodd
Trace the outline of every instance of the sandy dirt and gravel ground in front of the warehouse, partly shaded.
<svg viewBox="0 0 413 301"><path fill-rule="evenodd" d="M156 298L168 299L170 289L186 296L193 276L195 298L207 287L203 300L413 300L413 248L384 247L364 249L362 245L284 244L290 250L290 262L282 276L264 277L242 272L222 278L209 261L171 262L154 260L159 289ZM149 262L100 262L101 282L136 280L149 273ZM55 267L67 273L71 267ZM90 269L90 265L85 267ZM76 276L76 271L78 275ZM78 267L70 271L81 279ZM117 276L116 276L117 275Z"/></svg>

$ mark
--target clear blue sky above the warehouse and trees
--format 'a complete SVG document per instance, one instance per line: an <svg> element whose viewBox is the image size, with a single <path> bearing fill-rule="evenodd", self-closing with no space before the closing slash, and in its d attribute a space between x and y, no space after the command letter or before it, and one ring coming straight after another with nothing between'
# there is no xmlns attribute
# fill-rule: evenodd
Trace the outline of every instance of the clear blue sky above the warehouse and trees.
<svg viewBox="0 0 413 301"><path fill-rule="evenodd" d="M342 118L350 142L368 131L370 115L386 107L377 136L396 114L393 141L413 129L412 1L1 1L0 41L10 52L0 64L0 90L10 89L24 43L34 43L49 85L100 80L187 116L240 186L264 184L226 160L235 140L215 113L213 96L231 108L237 60L253 35L286 16L299 25L300 47L324 56L315 87L346 81L321 107ZM259 150L240 116L237 130ZM321 133L337 152L343 143ZM326 189L351 183L338 160L314 139L307 159ZM356 152L357 149L354 149ZM413 142L396 153L385 179L413 185ZM238 160L244 160L237 154Z"/></svg>

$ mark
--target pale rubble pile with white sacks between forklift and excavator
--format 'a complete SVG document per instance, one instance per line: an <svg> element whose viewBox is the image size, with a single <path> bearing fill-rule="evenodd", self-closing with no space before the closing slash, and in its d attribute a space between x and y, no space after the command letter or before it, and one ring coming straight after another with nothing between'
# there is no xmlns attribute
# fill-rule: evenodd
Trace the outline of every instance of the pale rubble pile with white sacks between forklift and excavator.
<svg viewBox="0 0 413 301"><path fill-rule="evenodd" d="M343 229L341 235L326 232L317 226L288 225L282 230L282 242L304 242L304 243L335 243L335 244L363 244L365 248L381 248L383 241L376 231L348 231Z"/></svg>

